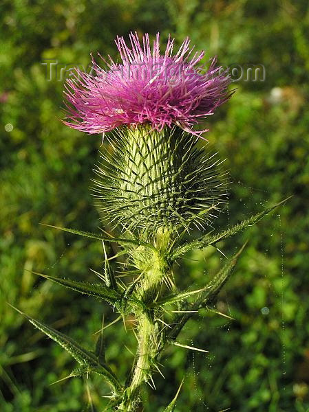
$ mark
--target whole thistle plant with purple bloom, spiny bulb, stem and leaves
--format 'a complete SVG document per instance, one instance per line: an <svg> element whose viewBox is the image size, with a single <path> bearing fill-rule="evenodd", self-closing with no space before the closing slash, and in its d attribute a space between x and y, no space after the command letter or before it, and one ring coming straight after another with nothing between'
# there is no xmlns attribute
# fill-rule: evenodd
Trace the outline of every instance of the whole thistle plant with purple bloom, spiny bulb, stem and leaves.
<svg viewBox="0 0 309 412"><path fill-rule="evenodd" d="M107 133L100 163L94 168L92 190L109 233L58 228L103 242L99 282L38 273L100 299L123 319L134 317L138 344L134 365L128 365L127 380L122 382L108 364L103 335L90 352L24 314L76 359L78 367L71 377L99 374L111 387L105 410L124 412L140 410L145 383L155 387L153 376L163 378L160 358L168 345L206 352L184 345L182 328L201 308L213 310L244 246L226 258L220 271L198 290L180 290L174 263L177 261L182 271L181 258L186 253L216 247L280 204L228 229L213 230L215 217L226 203L227 179L217 155L198 145L206 130L193 130L193 126L231 98L231 79L215 59L208 69L202 69L204 52L193 54L189 39L175 54L171 38L164 54L160 54L159 35L153 47L147 34L142 42L137 34L131 33L129 39L130 46L123 38L116 39L120 64L102 58L107 66L102 69L93 59L94 74L77 69L65 86L65 124L90 134L103 133L103 137ZM194 236L193 229L201 236ZM106 245L110 242L118 243L119 251L108 257ZM111 268L110 260L120 255L125 258L127 282ZM166 412L174 410L178 393Z"/></svg>

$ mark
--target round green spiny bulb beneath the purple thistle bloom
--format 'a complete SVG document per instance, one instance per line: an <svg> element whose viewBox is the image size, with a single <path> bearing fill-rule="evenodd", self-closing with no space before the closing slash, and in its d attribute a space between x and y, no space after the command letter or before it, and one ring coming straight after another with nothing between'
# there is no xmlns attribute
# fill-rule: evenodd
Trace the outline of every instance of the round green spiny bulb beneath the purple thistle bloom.
<svg viewBox="0 0 309 412"><path fill-rule="evenodd" d="M202 228L224 203L220 161L177 126L122 128L108 139L94 191L109 224L152 235L160 227Z"/></svg>

